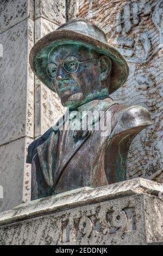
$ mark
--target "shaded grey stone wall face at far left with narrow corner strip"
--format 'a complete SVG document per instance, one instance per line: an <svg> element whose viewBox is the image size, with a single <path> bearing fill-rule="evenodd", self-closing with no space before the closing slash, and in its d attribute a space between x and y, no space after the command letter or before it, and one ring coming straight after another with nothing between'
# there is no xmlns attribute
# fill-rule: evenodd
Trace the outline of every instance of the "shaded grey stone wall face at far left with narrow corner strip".
<svg viewBox="0 0 163 256"><path fill-rule="evenodd" d="M34 139L34 75L29 51L34 45L34 2L0 1L0 210L30 196L26 148Z"/></svg>

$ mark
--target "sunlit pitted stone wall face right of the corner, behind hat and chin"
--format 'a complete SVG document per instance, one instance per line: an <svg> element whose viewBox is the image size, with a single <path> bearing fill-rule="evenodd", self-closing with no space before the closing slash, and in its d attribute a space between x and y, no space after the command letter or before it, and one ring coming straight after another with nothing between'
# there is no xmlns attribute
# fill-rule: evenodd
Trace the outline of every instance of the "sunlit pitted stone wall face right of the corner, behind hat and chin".
<svg viewBox="0 0 163 256"><path fill-rule="evenodd" d="M65 0L35 0L35 42L66 22ZM35 78L35 137L46 132L64 113L57 94Z"/></svg>

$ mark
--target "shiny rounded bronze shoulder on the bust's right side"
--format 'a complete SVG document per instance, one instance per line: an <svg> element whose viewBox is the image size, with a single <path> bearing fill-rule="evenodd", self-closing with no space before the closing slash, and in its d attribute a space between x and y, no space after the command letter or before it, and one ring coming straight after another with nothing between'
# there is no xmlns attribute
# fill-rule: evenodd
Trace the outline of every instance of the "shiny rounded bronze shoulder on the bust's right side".
<svg viewBox="0 0 163 256"><path fill-rule="evenodd" d="M116 107L115 107L116 108ZM134 129L135 127L142 127L152 125L152 119L145 107L138 105L124 106L119 105L114 113L114 129L113 135L125 130Z"/></svg>

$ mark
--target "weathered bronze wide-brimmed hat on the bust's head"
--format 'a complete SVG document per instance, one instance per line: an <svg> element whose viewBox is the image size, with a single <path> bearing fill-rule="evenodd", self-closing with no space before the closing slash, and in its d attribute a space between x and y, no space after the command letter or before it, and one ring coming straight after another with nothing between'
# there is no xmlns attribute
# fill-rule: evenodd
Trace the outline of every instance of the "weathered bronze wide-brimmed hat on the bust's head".
<svg viewBox="0 0 163 256"><path fill-rule="evenodd" d="M105 33L88 20L75 19L43 36L30 51L29 61L34 74L53 92L55 92L55 88L51 78L47 75L49 52L54 47L67 43L89 47L111 59L112 70L110 86L108 85L109 94L115 92L127 80L128 64L115 47L107 44Z"/></svg>

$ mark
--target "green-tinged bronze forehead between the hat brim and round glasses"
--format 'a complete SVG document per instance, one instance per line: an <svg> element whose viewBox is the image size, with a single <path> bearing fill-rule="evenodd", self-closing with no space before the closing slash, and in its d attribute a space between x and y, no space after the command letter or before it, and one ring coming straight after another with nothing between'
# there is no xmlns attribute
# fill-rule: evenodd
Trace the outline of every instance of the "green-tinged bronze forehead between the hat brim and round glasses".
<svg viewBox="0 0 163 256"><path fill-rule="evenodd" d="M90 57L92 51L84 46L78 44L64 44L53 48L49 53L49 62L60 63L68 56L77 57L79 60Z"/></svg>

